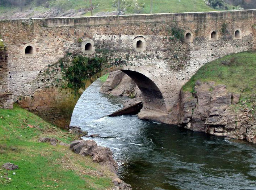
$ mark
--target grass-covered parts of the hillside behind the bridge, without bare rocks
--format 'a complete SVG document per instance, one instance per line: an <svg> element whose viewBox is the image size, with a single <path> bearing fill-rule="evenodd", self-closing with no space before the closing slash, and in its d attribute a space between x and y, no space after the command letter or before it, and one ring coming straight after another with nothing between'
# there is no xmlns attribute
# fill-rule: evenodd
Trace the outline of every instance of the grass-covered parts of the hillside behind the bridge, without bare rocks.
<svg viewBox="0 0 256 190"><path fill-rule="evenodd" d="M2 0L3 1L3 0ZM5 0L6 1L6 0ZM90 16L89 0L27 0L19 6L17 3L2 3L0 0L0 16L9 16L20 12L26 17L36 16L38 13L49 12L51 9L60 9L62 13L70 10L80 10L83 14L79 16ZM213 11L203 0L153 0L152 13L172 13L172 12L203 12ZM120 0L120 9L118 9L118 0L92 0L93 14L100 12L112 12L121 10L124 14L148 14L150 13L151 0ZM226 4L225 4L226 5ZM234 7L228 6L228 9ZM32 11L33 10L33 11ZM21 14L18 14L23 18Z"/></svg>

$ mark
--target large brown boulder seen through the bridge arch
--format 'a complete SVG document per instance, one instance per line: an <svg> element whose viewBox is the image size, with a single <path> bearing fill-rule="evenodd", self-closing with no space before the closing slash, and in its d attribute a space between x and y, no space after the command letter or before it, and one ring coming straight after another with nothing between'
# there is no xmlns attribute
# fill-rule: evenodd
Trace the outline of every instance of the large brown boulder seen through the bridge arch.
<svg viewBox="0 0 256 190"><path fill-rule="evenodd" d="M102 85L100 92L113 96L128 96L132 99L124 102L124 106L129 106L135 102L142 101L142 95L133 79L122 71L110 72L108 79Z"/></svg>

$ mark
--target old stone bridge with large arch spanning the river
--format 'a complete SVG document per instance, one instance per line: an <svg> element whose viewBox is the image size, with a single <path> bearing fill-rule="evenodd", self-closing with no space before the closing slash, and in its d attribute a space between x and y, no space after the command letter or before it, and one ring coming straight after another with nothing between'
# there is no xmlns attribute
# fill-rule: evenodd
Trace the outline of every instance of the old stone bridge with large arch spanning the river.
<svg viewBox="0 0 256 190"><path fill-rule="evenodd" d="M80 95L65 86L59 60L67 53L105 56L108 64L80 92L104 73L122 70L142 91L140 118L176 123L182 85L205 63L253 50L255 24L256 10L2 19L0 107L17 102L68 123Z"/></svg>

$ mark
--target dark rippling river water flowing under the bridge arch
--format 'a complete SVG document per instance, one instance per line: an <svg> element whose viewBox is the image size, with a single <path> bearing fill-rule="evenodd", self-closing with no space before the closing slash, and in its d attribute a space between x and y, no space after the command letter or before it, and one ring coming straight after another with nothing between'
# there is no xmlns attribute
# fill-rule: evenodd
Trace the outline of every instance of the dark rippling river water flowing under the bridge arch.
<svg viewBox="0 0 256 190"><path fill-rule="evenodd" d="M112 149L118 176L134 190L256 190L255 145L137 116L110 118L125 98L99 93L101 85L85 90L71 125L105 137L93 140Z"/></svg>

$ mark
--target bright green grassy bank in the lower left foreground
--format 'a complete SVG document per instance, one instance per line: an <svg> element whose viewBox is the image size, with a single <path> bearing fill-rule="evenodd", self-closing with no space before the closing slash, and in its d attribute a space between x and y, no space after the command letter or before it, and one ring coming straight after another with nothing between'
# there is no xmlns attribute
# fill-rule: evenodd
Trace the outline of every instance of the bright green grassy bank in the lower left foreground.
<svg viewBox="0 0 256 190"><path fill-rule="evenodd" d="M0 165L11 162L19 167L0 169L1 190L106 190L113 186L107 168L67 146L39 143L39 137L55 137L65 143L76 138L18 106L0 109Z"/></svg>

